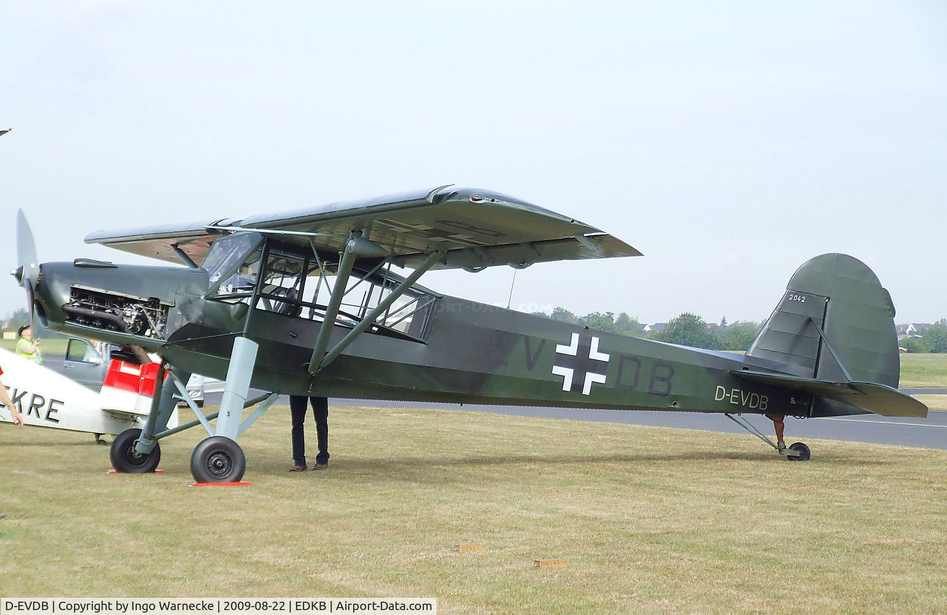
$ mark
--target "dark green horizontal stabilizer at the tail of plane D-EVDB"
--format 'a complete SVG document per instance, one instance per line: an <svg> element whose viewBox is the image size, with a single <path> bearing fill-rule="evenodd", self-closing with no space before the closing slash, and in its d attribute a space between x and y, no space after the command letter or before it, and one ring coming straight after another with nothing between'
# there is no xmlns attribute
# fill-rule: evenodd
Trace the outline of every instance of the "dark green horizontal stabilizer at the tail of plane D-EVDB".
<svg viewBox="0 0 947 615"><path fill-rule="evenodd" d="M835 401L840 401L855 408L881 414L882 416L927 416L927 406L910 395L884 384L874 382L832 382L831 380L816 380L814 378L800 378L788 374L769 374L766 372L750 372L746 370L730 372L737 378L762 382L785 389L805 391L815 395L822 395Z"/></svg>

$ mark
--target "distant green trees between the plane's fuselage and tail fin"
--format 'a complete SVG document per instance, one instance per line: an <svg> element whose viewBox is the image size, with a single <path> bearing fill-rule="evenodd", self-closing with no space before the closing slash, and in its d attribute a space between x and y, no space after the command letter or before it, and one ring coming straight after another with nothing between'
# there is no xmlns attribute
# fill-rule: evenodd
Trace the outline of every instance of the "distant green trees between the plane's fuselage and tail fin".
<svg viewBox="0 0 947 615"><path fill-rule="evenodd" d="M661 331L645 331L638 319L632 318L627 312L591 312L584 316L577 316L564 307L556 307L551 313L533 312L537 316L545 316L554 321L585 325L590 329L610 331L621 335L630 335L636 338L647 338L658 342L678 343L694 348L708 348L710 350L749 350L750 344L757 339L760 323L755 321L738 321L727 325L726 318L719 326L709 326L700 316L684 312L676 318L670 319Z"/></svg>

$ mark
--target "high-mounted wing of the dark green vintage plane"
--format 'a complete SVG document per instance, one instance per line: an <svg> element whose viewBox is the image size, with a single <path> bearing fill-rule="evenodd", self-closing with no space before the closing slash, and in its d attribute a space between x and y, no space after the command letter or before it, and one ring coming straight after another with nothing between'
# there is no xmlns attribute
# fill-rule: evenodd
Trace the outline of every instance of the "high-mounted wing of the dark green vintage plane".
<svg viewBox="0 0 947 615"><path fill-rule="evenodd" d="M382 246L395 264L419 265L444 252L432 269L479 271L581 258L639 256L594 226L497 192L453 185L294 211L188 224L100 231L85 237L138 255L176 261L174 245L200 262L221 233L257 230L285 241L341 252L352 231Z"/></svg>

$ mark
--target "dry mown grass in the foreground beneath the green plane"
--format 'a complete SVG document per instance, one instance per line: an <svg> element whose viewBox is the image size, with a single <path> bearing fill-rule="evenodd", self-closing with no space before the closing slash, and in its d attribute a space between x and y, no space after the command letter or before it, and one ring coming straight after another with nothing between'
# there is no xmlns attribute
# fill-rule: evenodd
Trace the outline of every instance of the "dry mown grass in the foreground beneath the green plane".
<svg viewBox="0 0 947 615"><path fill-rule="evenodd" d="M0 594L435 596L442 613L947 612L947 451L333 408L329 471L289 418L242 488L110 476L87 434L0 427ZM312 463L312 460L311 460ZM483 552L456 554L456 543ZM537 558L566 569L539 570Z"/></svg>

